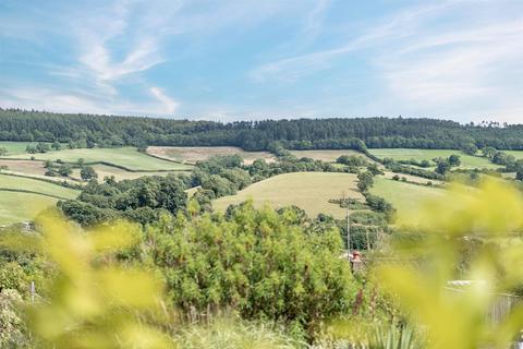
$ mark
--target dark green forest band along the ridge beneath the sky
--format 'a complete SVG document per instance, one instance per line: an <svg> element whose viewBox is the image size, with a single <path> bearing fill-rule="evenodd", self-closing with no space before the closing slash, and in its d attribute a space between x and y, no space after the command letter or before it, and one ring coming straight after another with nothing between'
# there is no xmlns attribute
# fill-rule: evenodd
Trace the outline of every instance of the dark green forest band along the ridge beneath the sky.
<svg viewBox="0 0 523 349"><path fill-rule="evenodd" d="M462 125L437 119L355 118L239 121L61 115L0 109L0 141L69 142L74 147L121 145L239 146L270 149L460 148L466 144L523 149L523 125Z"/></svg>

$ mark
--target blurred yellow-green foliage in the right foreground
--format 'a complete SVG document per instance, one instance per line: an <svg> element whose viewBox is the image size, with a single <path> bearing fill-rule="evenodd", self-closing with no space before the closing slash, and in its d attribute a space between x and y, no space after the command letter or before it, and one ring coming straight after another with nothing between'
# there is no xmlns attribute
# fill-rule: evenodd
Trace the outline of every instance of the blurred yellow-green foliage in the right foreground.
<svg viewBox="0 0 523 349"><path fill-rule="evenodd" d="M423 234L402 239L393 254L415 262L381 263L376 278L426 328L428 348L508 348L523 328L523 308L490 313L523 284L521 193L495 180L477 190L455 185L399 221L408 225L412 215L421 217L414 229ZM466 281L449 284L455 279Z"/></svg>

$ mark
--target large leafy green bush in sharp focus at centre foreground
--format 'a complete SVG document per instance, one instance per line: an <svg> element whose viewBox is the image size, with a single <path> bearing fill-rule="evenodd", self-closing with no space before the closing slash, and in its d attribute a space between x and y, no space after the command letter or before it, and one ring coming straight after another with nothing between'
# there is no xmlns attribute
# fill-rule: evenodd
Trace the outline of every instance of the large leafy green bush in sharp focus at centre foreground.
<svg viewBox="0 0 523 349"><path fill-rule="evenodd" d="M147 229L151 260L184 312L232 306L244 318L314 328L348 310L353 282L338 229L304 232L295 210L246 203L222 215L165 217Z"/></svg>

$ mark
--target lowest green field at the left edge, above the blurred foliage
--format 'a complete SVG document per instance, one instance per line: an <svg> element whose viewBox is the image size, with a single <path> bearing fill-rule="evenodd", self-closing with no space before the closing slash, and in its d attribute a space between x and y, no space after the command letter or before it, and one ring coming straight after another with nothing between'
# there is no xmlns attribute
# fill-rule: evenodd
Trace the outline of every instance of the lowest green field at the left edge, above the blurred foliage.
<svg viewBox="0 0 523 349"><path fill-rule="evenodd" d="M57 201L39 194L0 191L0 226L29 221Z"/></svg>

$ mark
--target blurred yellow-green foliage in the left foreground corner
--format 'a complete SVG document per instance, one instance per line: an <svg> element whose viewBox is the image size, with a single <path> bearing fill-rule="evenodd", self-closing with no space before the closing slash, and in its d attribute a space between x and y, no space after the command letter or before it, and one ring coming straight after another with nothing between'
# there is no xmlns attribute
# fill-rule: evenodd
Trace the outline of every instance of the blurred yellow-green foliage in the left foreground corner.
<svg viewBox="0 0 523 349"><path fill-rule="evenodd" d="M115 222L84 231L56 214L38 218L42 238L2 239L15 250L38 250L57 268L49 297L26 306L38 348L172 348L155 328L167 320L162 285L153 273L120 265L115 251L141 241L136 226ZM153 321L154 320L154 321Z"/></svg>

